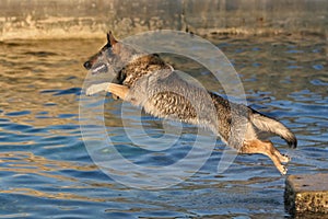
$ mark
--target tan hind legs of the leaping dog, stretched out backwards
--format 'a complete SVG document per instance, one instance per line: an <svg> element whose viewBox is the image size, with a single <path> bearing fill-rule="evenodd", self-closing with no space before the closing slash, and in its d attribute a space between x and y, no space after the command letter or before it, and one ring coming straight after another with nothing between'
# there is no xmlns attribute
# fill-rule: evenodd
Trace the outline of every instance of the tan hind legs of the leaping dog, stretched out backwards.
<svg viewBox="0 0 328 219"><path fill-rule="evenodd" d="M281 162L286 162L288 157L282 155L271 141L261 141L258 139L246 140L239 149L239 153L261 153L268 155L279 172L282 175L286 174L288 169Z"/></svg>

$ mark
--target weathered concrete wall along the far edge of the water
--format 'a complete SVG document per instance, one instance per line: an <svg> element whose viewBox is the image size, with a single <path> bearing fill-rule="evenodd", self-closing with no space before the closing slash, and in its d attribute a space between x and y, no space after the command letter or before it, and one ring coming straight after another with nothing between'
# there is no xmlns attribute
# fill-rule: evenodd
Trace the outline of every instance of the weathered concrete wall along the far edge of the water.
<svg viewBox="0 0 328 219"><path fill-rule="evenodd" d="M327 37L326 0L0 0L0 41L125 36L188 28L214 34Z"/></svg>

